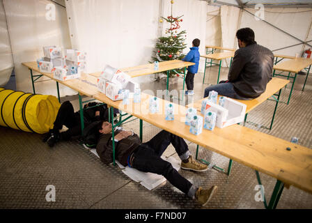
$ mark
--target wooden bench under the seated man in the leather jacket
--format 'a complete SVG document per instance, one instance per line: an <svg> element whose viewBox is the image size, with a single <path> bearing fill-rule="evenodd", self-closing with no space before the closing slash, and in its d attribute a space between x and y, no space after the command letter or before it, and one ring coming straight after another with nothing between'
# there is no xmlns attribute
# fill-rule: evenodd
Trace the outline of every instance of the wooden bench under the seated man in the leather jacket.
<svg viewBox="0 0 312 223"><path fill-rule="evenodd" d="M269 98L274 96L276 92L279 92L278 94L276 94L277 98L274 97L274 101L276 102L275 108L274 108L274 114L272 116L270 128L267 128L268 130L272 130L274 117L276 114L276 109L277 109L277 106L279 105L279 97L281 95L281 89L283 89L283 87L286 86L286 84L288 84L288 83L289 83L289 80L273 77L272 80L269 83L267 83L267 88L265 89L265 92L262 93L258 98L255 98L253 100L237 100L237 99L232 98L233 100L236 100L237 102L241 102L247 106L244 122L247 121L247 114L249 112L251 112L253 109L255 109L261 103L265 102L266 100L268 100ZM219 100L220 96L221 95L218 95L218 100ZM197 109L198 112L201 112L201 102L204 99L205 98L198 100L198 101L194 102L194 104L189 104L189 105L187 105L187 107L194 107Z"/></svg>

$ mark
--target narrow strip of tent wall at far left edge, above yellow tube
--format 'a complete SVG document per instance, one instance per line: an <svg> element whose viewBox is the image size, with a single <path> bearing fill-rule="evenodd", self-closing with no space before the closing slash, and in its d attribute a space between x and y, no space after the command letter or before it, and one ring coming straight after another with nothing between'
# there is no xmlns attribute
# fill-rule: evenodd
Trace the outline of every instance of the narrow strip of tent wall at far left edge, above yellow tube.
<svg viewBox="0 0 312 223"><path fill-rule="evenodd" d="M12 50L3 3L0 1L0 86L6 85L13 70Z"/></svg>

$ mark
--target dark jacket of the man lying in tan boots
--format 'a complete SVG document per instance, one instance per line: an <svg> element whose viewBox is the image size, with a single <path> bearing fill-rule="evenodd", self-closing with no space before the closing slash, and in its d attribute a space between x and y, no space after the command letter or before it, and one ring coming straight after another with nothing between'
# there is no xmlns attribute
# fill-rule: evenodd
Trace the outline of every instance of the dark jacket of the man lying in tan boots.
<svg viewBox="0 0 312 223"><path fill-rule="evenodd" d="M115 135L118 134L120 130L115 131ZM139 146L141 145L141 140L137 134L130 135L125 139L118 142L115 141L115 158L127 166L127 157ZM96 151L100 156L100 160L105 164L113 162L113 141L111 140L111 133L102 134L96 146Z"/></svg>

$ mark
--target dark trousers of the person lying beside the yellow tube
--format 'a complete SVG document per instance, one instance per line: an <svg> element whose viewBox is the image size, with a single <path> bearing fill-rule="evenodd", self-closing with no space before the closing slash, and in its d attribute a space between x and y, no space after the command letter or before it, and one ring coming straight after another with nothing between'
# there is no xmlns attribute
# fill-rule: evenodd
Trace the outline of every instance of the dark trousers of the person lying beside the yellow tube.
<svg viewBox="0 0 312 223"><path fill-rule="evenodd" d="M68 140L70 137L81 134L80 115L74 112L74 107L70 101L65 101L61 105L54 121L53 130L61 130L65 125L68 130L61 132L61 139Z"/></svg>

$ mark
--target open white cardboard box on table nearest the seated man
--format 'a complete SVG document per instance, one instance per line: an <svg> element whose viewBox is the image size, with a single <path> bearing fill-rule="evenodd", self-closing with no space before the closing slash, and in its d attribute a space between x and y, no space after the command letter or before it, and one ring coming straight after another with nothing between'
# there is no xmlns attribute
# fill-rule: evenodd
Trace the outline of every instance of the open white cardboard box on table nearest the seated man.
<svg viewBox="0 0 312 223"><path fill-rule="evenodd" d="M225 98L224 107L207 102L205 112L217 113L217 128L224 128L244 121L247 106L231 98Z"/></svg>

